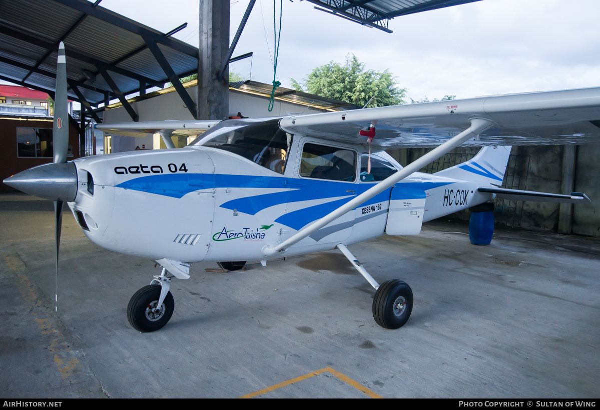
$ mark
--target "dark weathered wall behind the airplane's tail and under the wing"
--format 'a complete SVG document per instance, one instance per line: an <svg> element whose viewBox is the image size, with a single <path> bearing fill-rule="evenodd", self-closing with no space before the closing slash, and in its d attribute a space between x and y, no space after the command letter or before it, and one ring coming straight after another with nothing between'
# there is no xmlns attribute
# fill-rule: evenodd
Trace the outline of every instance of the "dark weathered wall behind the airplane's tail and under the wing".
<svg viewBox="0 0 600 410"><path fill-rule="evenodd" d="M390 149L392 155L402 165L410 164L431 149ZM435 173L475 156L479 147L458 147L422 172ZM527 191L562 192L562 186L569 178L563 173L564 146L515 146L512 147L508 167L502 186ZM574 171L572 191L584 192L591 204L572 206L571 233L600 236L600 144L586 144L575 147L574 164L566 164ZM567 184L568 185L568 184ZM497 226L525 228L541 231L559 231L559 204L527 201L507 201L496 198L494 220ZM464 210L446 218L469 222L470 212Z"/></svg>

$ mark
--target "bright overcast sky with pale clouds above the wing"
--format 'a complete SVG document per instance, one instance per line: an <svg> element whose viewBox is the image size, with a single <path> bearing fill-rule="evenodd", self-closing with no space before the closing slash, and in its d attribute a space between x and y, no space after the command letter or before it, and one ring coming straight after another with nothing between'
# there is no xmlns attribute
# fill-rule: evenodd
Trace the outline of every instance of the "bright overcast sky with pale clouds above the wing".
<svg viewBox="0 0 600 410"><path fill-rule="evenodd" d="M233 0L231 38L247 7ZM277 0L277 7L280 0ZM197 47L198 0L103 0L102 7ZM354 53L367 68L389 69L407 95L419 100L600 86L599 0L482 0L397 17L392 34L283 1L277 79L289 86L317 65L343 63ZM277 21L279 16L277 14ZM243 77L273 80L273 2L257 0L232 64Z"/></svg>

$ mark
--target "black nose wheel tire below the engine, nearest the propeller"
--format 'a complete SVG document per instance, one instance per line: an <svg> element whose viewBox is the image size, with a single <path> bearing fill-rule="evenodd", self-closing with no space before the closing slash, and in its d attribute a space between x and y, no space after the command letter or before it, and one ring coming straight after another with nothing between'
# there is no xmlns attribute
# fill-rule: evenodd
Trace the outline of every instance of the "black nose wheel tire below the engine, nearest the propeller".
<svg viewBox="0 0 600 410"><path fill-rule="evenodd" d="M173 315L175 301L169 292L160 310L156 309L161 285L148 285L133 294L127 305L127 320L141 332L155 331L167 324Z"/></svg>

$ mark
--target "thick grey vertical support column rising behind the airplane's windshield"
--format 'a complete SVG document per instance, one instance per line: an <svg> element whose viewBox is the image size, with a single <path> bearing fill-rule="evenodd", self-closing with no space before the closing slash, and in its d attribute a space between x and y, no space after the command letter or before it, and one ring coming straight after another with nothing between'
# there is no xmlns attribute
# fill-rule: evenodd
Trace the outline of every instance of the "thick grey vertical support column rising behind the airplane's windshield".
<svg viewBox="0 0 600 410"><path fill-rule="evenodd" d="M200 0L199 119L222 120L229 117L229 82L218 78L229 50L229 9L227 1ZM224 77L229 78L228 68Z"/></svg>

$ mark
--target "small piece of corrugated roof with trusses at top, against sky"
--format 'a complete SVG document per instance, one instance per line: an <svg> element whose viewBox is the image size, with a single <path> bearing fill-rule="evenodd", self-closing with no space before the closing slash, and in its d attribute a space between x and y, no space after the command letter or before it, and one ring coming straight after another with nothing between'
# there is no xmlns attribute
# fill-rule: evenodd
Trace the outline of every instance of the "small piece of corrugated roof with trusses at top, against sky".
<svg viewBox="0 0 600 410"><path fill-rule="evenodd" d="M391 33L389 20L481 0L308 0L322 11Z"/></svg>

